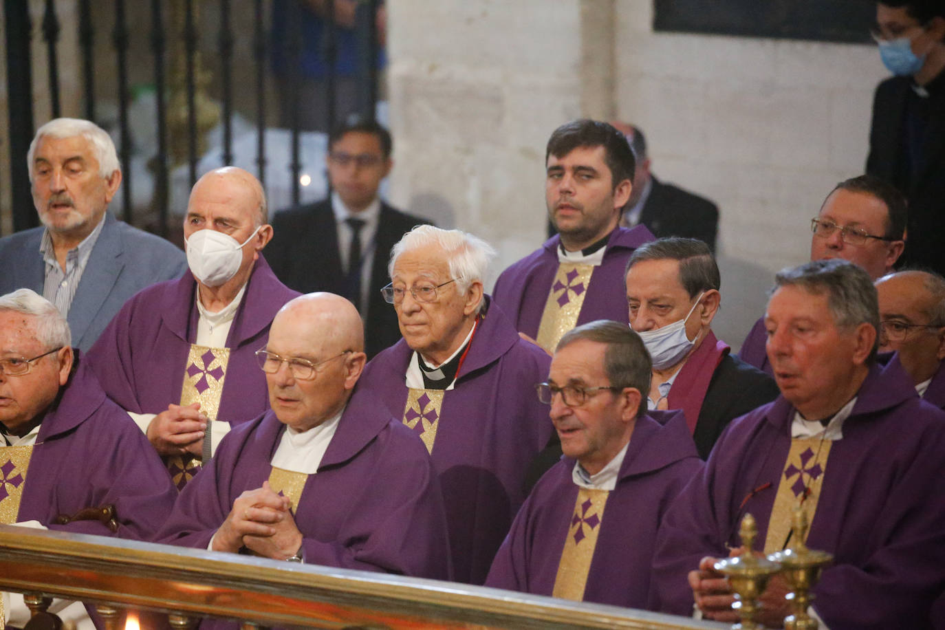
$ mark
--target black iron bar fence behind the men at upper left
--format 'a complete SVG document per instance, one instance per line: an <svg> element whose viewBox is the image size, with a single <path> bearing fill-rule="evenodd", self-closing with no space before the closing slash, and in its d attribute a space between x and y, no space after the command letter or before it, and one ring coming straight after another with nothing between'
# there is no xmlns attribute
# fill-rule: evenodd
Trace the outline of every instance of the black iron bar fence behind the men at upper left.
<svg viewBox="0 0 945 630"><path fill-rule="evenodd" d="M284 177L290 182L283 205L298 204L302 198L301 188L309 179L302 172L301 151L305 134L313 129L304 121L303 114L315 102L313 93L303 92L301 86L309 78L310 68L306 64L310 65L313 53L320 59L319 67L323 69L314 98L324 99L318 105L325 112L324 124L316 132L330 128L351 111L366 117L375 115L379 66L383 63L383 32L380 31L384 26L383 0L323 0L320 3L306 0L150 0L148 4L129 4L126 0L78 0L75 7L77 19L65 23L60 21L57 4L56 0L45 0L42 23L38 30L34 30L26 0L4 0L14 230L38 225L25 159L35 128L46 122L44 113L41 117L34 109L31 40L36 35L43 38L46 52L51 117L59 117L63 111L59 60L63 54L60 36L65 29L77 29L77 54L80 57L82 106L73 108L73 115L82 115L107 128L99 120L104 99L98 79L108 75L114 77L115 94L111 100L114 103L112 107L117 109L117 120L112 135L116 138L123 166L122 188L116 205L121 206L125 221L163 236L169 232L171 188L174 185L172 170L186 165L188 188L200 174L208 130L207 121L203 120L205 116L202 116L206 108L202 106L207 101L211 101L220 112L219 123L215 125L220 151L218 162L246 163L250 156L245 153L251 150L255 173L264 185L266 164L274 157L274 149L267 146L266 138L274 127L283 129L280 137L288 139L283 143L287 146L275 149L288 153L287 160L286 156L280 156L287 171ZM312 9L312 5L317 9ZM339 18L344 13L341 9L349 9L349 14ZM284 26L279 33L272 28L277 13ZM214 24L210 24L207 14L214 17ZM108 19L103 20L103 16ZM111 31L101 32L100 25L111 21ZM313 27L318 28L317 33L312 32ZM318 50L315 51L310 50L313 34L318 39ZM249 64L240 63L234 85L233 52L237 42L251 42L251 61ZM345 46L345 43L349 45ZM282 49L282 78L274 82L272 55L279 48ZM216 72L213 76L201 68L201 52L215 58ZM74 54L75 51L66 53ZM142 67L142 63L149 67ZM343 66L340 72L350 74L351 77L345 78L350 78L356 87L346 111L339 111L337 104L337 86L341 80L339 63ZM146 156L147 181L139 181L145 179L141 169L130 167L136 141L130 120L131 70L138 77L149 75L153 85L153 120L147 121L153 129L149 129L147 135L153 134L154 142L148 147L152 154ZM244 120L252 121L252 143L234 144L233 121L237 113L234 90L242 96L244 104L244 111L239 113ZM215 99L207 96L211 92ZM253 95L248 98L250 92ZM281 105L281 116L272 111L276 102ZM175 103L180 107L175 107ZM247 107L246 103L251 105ZM137 128L140 130L140 123ZM307 145L323 150L324 142ZM150 189L150 195L145 196L149 200L144 208L142 196L135 195L138 186Z"/></svg>

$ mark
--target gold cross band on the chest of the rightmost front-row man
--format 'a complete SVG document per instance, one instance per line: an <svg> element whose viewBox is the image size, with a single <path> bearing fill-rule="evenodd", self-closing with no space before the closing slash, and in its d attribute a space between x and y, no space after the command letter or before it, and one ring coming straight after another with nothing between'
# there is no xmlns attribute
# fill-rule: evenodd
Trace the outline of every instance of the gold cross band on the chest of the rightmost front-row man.
<svg viewBox="0 0 945 630"><path fill-rule="evenodd" d="M796 506L802 505L807 513L807 522L814 522L832 444L823 437L791 440L791 450L787 453L778 494L768 519L765 553L780 552L784 548L787 536L791 534L791 516Z"/></svg>

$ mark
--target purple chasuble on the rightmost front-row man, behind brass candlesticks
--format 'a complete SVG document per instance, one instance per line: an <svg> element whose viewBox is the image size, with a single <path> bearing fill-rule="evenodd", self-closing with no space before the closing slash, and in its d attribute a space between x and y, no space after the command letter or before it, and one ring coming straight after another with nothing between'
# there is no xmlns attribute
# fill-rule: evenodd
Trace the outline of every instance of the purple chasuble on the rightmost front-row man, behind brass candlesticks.
<svg viewBox="0 0 945 630"><path fill-rule="evenodd" d="M843 439L824 470L785 467L794 407L783 397L733 420L706 468L663 519L653 564L654 609L688 615L686 574L738 546L739 521L765 544L782 474L799 490L823 474L807 545L833 553L814 589L831 630L919 630L945 585L945 413L920 400L898 365L871 366ZM816 458L815 458L816 459Z"/></svg>

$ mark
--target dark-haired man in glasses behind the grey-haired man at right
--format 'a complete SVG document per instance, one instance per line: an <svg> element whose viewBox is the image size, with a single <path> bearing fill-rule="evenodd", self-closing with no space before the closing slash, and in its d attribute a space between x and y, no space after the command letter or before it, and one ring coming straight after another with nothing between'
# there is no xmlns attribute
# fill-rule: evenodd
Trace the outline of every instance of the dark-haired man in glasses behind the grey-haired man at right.
<svg viewBox="0 0 945 630"><path fill-rule="evenodd" d="M873 280L885 276L905 247L905 197L871 175L845 179L811 219L811 260L842 258L863 267ZM765 352L765 318L748 332L739 358L774 375Z"/></svg>

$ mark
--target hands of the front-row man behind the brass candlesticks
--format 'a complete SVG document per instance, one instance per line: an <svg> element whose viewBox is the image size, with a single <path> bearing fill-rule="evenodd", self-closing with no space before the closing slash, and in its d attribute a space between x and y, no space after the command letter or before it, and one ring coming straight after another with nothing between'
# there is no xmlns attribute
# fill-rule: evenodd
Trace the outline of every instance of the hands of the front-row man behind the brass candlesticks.
<svg viewBox="0 0 945 630"><path fill-rule="evenodd" d="M729 557L740 555L744 551L742 548L732 549ZM755 554L762 555L757 552ZM719 558L710 556L702 558L699 561L698 570L689 571L689 587L693 589L696 606L702 611L704 619L735 623L739 621L738 614L731 608L731 604L735 602L735 596L731 592L725 575L715 570L715 563L718 561ZM770 628L783 627L784 617L792 612L790 603L784 599L784 595L790 591L790 587L781 575L772 576L768 580L765 592L758 598L761 610L758 612L756 621Z"/></svg>

